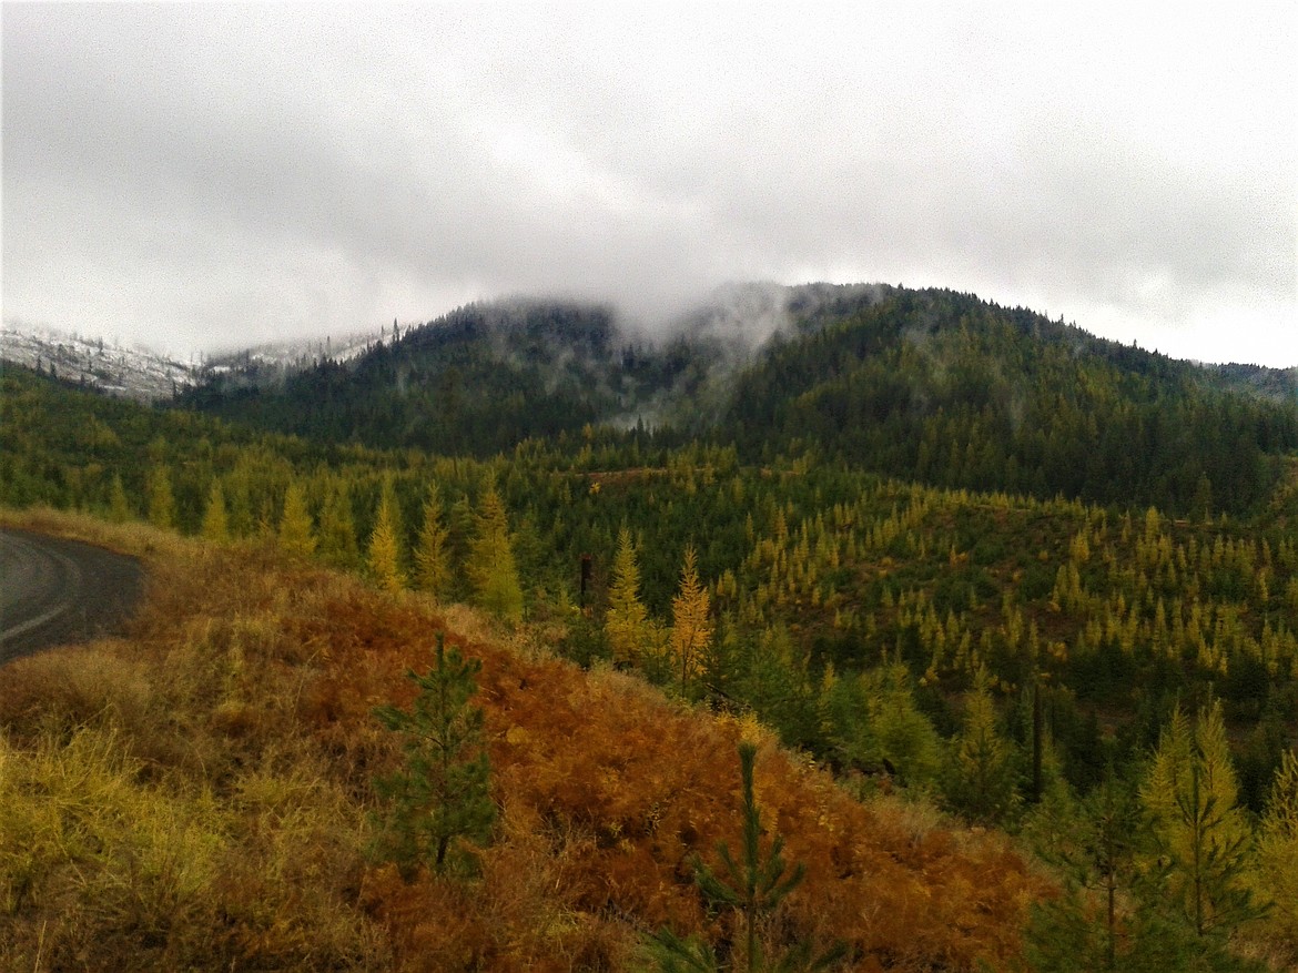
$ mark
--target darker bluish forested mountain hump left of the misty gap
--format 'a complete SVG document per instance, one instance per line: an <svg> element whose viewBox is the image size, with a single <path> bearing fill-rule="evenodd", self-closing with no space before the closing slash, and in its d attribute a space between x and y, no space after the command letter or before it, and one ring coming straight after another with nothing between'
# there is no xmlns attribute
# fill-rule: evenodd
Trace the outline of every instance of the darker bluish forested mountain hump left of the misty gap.
<svg viewBox="0 0 1298 973"><path fill-rule="evenodd" d="M263 428L375 446L491 455L587 423L635 426L689 401L720 355L635 341L606 307L470 305L275 383L214 374L182 405Z"/></svg>

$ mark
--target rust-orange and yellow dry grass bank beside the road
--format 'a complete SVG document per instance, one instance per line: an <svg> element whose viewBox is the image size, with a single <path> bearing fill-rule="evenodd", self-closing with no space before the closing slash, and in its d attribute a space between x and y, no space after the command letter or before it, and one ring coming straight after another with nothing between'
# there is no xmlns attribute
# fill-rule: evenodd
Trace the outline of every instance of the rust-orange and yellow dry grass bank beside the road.
<svg viewBox="0 0 1298 973"><path fill-rule="evenodd" d="M136 550L152 580L129 638L4 669L0 968L624 969L659 924L723 930L689 863L739 839L741 734L809 869L772 937L849 939L861 969L1018 952L1040 885L1002 841L862 806L759 727L550 658L545 632L257 549L22 525ZM371 710L409 701L443 628L483 660L500 826L480 878L406 883L363 854L397 759Z"/></svg>

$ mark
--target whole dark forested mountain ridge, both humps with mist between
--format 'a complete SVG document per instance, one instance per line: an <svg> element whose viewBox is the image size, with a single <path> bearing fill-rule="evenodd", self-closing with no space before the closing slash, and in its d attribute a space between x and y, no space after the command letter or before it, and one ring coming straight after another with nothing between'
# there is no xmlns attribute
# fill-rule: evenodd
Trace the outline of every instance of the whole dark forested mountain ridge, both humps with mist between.
<svg viewBox="0 0 1298 973"><path fill-rule="evenodd" d="M942 486L1254 509L1298 449L1293 376L1206 367L972 294L736 287L636 336L607 307L470 305L350 362L210 374L182 403L334 442L493 455L587 424L814 446Z"/></svg>

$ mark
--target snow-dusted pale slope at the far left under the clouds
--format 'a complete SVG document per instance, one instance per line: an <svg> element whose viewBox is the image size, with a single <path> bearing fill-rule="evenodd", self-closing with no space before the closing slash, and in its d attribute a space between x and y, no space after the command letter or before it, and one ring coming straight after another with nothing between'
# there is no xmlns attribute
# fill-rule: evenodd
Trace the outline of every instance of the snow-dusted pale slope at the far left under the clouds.
<svg viewBox="0 0 1298 973"><path fill-rule="evenodd" d="M49 330L0 330L0 361L110 396L154 402L199 381L197 370L139 348Z"/></svg>

